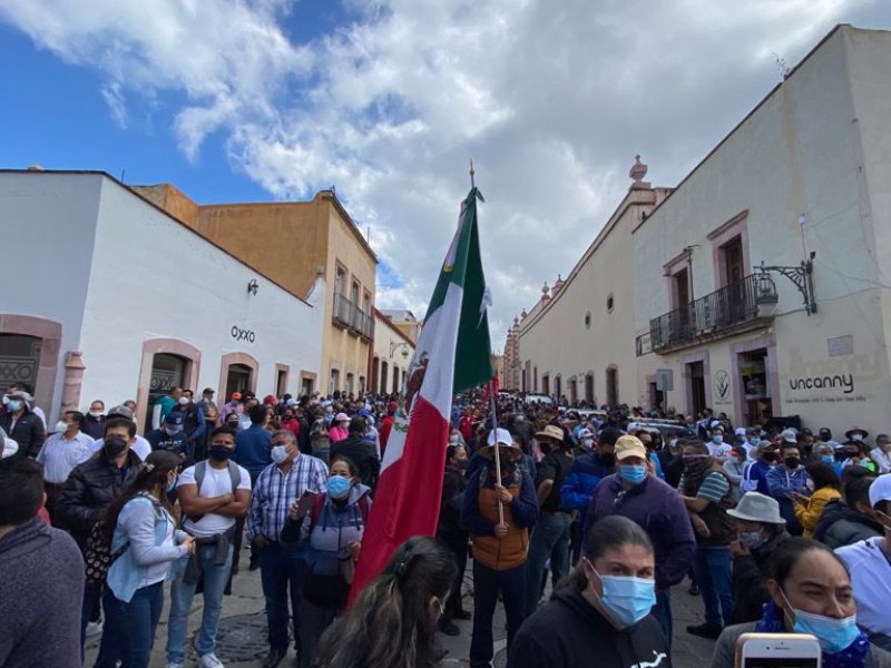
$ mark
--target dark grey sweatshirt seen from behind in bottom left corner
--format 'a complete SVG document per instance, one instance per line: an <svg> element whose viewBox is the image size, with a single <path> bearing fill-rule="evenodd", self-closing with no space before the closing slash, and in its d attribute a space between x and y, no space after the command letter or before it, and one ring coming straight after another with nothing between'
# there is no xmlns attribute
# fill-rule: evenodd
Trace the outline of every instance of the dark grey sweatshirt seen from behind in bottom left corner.
<svg viewBox="0 0 891 668"><path fill-rule="evenodd" d="M33 518L0 538L0 666L80 668L84 559L74 539Z"/></svg>

